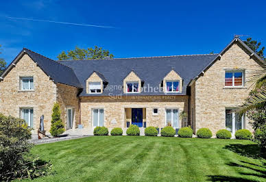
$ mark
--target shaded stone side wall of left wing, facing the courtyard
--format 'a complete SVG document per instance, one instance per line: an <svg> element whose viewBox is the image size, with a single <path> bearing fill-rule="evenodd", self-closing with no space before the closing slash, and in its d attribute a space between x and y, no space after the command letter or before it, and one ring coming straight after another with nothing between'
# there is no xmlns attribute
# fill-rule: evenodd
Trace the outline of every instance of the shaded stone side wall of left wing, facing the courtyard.
<svg viewBox="0 0 266 182"><path fill-rule="evenodd" d="M66 109L74 109L74 120L73 120L73 128L77 127L79 122L79 99L77 94L79 92L79 88L75 88L73 86L66 86L61 83L57 83L57 102L60 105L61 109L61 119L64 122L64 126L66 127Z"/></svg>

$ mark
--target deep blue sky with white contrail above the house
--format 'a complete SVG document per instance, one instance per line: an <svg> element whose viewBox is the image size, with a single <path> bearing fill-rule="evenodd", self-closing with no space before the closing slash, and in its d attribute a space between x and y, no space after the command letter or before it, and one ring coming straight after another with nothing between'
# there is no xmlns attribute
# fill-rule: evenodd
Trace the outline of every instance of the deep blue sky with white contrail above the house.
<svg viewBox="0 0 266 182"><path fill-rule="evenodd" d="M1 57L10 63L26 47L56 59L95 45L114 57L219 53L234 34L266 46L265 11L266 1L2 1Z"/></svg>

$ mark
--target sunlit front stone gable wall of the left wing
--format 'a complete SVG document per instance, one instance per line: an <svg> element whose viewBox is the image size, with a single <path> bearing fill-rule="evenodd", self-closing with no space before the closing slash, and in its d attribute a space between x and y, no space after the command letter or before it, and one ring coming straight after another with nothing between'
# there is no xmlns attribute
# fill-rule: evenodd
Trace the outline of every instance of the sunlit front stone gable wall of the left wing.
<svg viewBox="0 0 266 182"><path fill-rule="evenodd" d="M34 90L20 90L20 77L34 77ZM34 133L40 126L40 116L45 116L45 130L49 130L53 103L56 102L56 84L24 54L16 66L0 81L0 112L6 116L21 116L20 108L34 109Z"/></svg>

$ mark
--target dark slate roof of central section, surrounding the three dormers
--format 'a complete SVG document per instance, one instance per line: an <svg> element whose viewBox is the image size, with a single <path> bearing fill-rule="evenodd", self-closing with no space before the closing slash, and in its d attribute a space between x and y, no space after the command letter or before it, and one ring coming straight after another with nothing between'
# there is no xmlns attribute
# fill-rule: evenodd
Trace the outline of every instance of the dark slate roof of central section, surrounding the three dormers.
<svg viewBox="0 0 266 182"><path fill-rule="evenodd" d="M143 86L158 88L165 75L171 71L176 72L183 79L182 93L167 93L167 95L185 95L189 82L200 73L208 64L213 62L217 54L207 55L176 55L165 57L133 57L114 58L108 60L73 60L59 61L61 64L69 66L75 72L77 79L86 88L86 79L97 71L104 75L108 85L102 94L86 94L84 89L80 96L109 96L109 94L123 94L122 89L110 90L110 86L123 86L123 79L132 71L144 81ZM127 94L129 95L129 94ZM165 95L164 92L141 92L130 95Z"/></svg>

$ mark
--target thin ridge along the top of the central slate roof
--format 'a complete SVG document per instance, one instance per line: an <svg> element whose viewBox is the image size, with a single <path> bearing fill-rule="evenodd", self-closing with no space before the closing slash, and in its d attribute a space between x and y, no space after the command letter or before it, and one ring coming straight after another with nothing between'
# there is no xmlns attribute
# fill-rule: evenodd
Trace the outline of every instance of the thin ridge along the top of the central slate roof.
<svg viewBox="0 0 266 182"><path fill-rule="evenodd" d="M156 58L156 57L185 57L195 55L218 55L219 53L213 54L189 54L189 55L162 55L162 56L144 56L144 57L116 57L108 60L125 60L125 59L141 59L141 58ZM90 60L106 60L106 59L90 59ZM90 60L58 60L58 62L73 62L73 61L90 61Z"/></svg>

